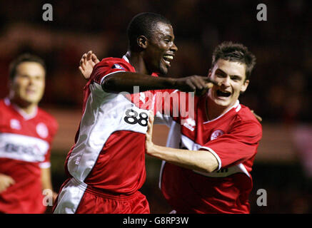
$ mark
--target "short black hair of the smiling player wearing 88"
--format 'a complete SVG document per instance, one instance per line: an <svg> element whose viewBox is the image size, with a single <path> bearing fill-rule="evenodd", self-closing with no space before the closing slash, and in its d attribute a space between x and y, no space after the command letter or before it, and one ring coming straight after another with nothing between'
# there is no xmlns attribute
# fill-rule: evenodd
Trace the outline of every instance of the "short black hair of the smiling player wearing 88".
<svg viewBox="0 0 312 228"><path fill-rule="evenodd" d="M131 19L127 28L129 48L131 51L137 48L136 39L139 36L143 35L146 36L146 38L151 38L153 36L154 28L158 22L171 25L171 22L164 16L151 12L137 14Z"/></svg>

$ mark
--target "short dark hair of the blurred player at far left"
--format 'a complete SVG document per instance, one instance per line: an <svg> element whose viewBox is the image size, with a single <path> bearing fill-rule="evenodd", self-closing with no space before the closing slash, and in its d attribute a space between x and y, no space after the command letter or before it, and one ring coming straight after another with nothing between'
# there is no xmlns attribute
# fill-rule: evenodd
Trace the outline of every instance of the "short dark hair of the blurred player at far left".
<svg viewBox="0 0 312 228"><path fill-rule="evenodd" d="M31 53L24 53L18 56L10 63L9 66L9 79L13 81L14 77L16 76L16 68L19 66L19 64L24 62L35 62L41 64L41 66L44 67L44 70L46 71L46 64L44 63L44 60L40 58L39 56L35 56Z"/></svg>

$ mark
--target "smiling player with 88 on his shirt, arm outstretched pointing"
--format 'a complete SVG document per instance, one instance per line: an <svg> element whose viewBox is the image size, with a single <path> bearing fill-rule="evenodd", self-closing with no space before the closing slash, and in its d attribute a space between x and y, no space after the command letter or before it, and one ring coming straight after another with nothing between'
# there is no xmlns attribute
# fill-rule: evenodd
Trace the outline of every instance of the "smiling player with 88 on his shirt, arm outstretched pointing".
<svg viewBox="0 0 312 228"><path fill-rule="evenodd" d="M178 50L171 23L163 16L136 15L128 39L126 55L96 63L86 83L84 114L66 157L69 179L54 213L149 213L149 203L139 192L146 179L144 145L148 110L153 108L142 108L149 98L144 91L202 91L211 86L206 77L158 77L166 75ZM134 86L141 92L138 103ZM125 91L129 95L119 93Z"/></svg>

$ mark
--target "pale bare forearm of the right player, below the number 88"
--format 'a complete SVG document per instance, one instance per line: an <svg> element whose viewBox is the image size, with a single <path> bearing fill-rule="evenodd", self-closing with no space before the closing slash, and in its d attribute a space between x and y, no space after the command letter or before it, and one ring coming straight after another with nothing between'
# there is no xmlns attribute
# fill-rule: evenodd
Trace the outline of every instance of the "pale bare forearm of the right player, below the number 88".
<svg viewBox="0 0 312 228"><path fill-rule="evenodd" d="M213 172L218 167L216 157L204 150L183 150L153 145L146 153L174 165L200 172Z"/></svg>

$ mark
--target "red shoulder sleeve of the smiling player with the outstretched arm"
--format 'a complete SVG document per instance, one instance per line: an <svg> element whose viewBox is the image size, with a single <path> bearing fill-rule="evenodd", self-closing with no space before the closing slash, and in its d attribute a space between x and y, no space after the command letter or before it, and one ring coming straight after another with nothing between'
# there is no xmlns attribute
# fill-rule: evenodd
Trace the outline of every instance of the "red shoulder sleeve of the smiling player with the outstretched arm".
<svg viewBox="0 0 312 228"><path fill-rule="evenodd" d="M121 58L120 61L117 58L104 58L94 66L94 70L91 73L91 80L101 84L105 77L120 71L130 71L125 61Z"/></svg>

